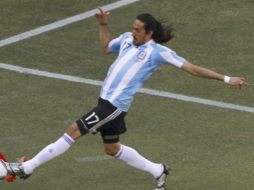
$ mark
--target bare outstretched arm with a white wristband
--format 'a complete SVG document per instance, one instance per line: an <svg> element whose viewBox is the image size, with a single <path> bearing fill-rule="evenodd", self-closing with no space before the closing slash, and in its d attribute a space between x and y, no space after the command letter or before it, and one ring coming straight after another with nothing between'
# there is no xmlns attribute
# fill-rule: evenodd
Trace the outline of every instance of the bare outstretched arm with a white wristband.
<svg viewBox="0 0 254 190"><path fill-rule="evenodd" d="M228 77L215 71L212 71L210 69L206 69L189 62L185 63L181 68L184 71L197 77L221 80L230 85L239 86L240 88L243 85L246 85L245 79L243 77Z"/></svg>

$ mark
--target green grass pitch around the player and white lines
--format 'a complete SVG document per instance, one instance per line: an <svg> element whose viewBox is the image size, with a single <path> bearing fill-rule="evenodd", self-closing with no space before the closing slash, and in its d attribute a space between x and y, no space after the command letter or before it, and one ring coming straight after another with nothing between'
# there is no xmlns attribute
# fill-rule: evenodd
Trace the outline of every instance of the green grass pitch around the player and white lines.
<svg viewBox="0 0 254 190"><path fill-rule="evenodd" d="M1 0L0 39L70 17L113 0ZM162 66L145 87L254 107L253 0L141 0L111 11L113 37L130 31L142 12L172 23L167 44L194 64L250 83L239 90ZM103 55L91 17L0 48L0 63L103 80L115 56ZM97 86L0 69L0 151L33 157L97 102ZM253 113L137 94L123 144L172 167L170 190L253 190ZM78 140L27 181L2 190L149 190L146 173L104 156L99 135Z"/></svg>

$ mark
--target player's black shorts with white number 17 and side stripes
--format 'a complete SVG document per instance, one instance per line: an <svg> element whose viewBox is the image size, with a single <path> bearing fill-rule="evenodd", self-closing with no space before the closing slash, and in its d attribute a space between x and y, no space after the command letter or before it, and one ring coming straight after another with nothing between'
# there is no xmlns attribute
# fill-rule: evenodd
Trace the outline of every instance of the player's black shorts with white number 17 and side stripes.
<svg viewBox="0 0 254 190"><path fill-rule="evenodd" d="M123 112L109 101L99 98L98 105L76 121L82 135L101 133L104 143L116 143L126 131Z"/></svg>

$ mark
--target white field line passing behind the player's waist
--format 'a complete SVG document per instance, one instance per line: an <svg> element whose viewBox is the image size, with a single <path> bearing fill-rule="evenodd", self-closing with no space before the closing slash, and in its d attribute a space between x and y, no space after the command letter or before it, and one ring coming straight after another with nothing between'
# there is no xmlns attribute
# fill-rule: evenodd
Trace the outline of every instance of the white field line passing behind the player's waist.
<svg viewBox="0 0 254 190"><path fill-rule="evenodd" d="M42 76L42 77L47 77L47 78L61 79L61 80L84 83L84 84L91 84L91 85L96 85L96 86L101 86L103 83L102 81L99 81L99 80L85 79L85 78L80 78L80 77L75 77L75 76L70 76L70 75L63 75L63 74L52 73L52 72L47 72L47 71L40 71L37 69L29 69L29 68L9 65L9 64L5 64L5 63L0 63L0 68L19 72L19 73L24 73L24 74L32 74L32 75L37 75L37 76ZM226 109L231 109L231 110L254 113L253 107L242 106L242 105L237 105L237 104L230 104L230 103L221 102L221 101L214 101L214 100L209 100L209 99L191 97L191 96L186 96L186 95L182 95L182 94L175 94L175 93L171 93L171 92L158 91L158 90L147 89L147 88L142 88L142 89L140 89L139 92L144 93L144 94L153 95L153 96L160 96L160 97L165 97L165 98L170 98L170 99L175 99L175 100L181 100L181 101L185 101L185 102L192 102L192 103L204 104L204 105L209 105L209 106L214 106L214 107L219 107L219 108L226 108Z"/></svg>

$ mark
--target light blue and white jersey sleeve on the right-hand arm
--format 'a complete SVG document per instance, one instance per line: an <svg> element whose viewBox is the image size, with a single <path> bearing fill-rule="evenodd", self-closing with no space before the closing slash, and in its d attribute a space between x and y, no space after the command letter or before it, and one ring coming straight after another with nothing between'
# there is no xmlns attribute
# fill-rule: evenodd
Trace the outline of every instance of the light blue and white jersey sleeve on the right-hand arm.
<svg viewBox="0 0 254 190"><path fill-rule="evenodd" d="M157 53L156 57L158 62L162 64L171 64L178 68L181 68L183 64L186 62L186 59L177 55L176 52L166 47L162 48Z"/></svg>

